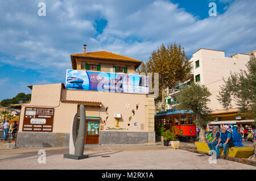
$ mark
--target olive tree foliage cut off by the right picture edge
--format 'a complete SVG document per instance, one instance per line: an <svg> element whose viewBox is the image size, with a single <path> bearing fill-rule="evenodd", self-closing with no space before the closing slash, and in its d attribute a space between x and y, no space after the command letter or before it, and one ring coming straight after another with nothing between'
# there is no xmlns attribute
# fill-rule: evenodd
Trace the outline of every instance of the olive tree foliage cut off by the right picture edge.
<svg viewBox="0 0 256 181"><path fill-rule="evenodd" d="M256 120L256 58L251 56L246 64L246 70L240 73L230 73L230 77L221 86L218 101L226 110L236 102L240 112Z"/></svg>

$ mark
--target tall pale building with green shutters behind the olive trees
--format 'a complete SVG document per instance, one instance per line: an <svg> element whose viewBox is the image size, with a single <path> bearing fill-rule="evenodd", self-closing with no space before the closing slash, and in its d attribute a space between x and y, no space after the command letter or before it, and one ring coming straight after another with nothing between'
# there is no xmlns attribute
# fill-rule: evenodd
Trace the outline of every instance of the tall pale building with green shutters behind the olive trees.
<svg viewBox="0 0 256 181"><path fill-rule="evenodd" d="M191 58L192 70L184 82L179 83L176 87L167 90L168 109L175 109L178 102L176 96L184 85L190 85L192 81L199 82L208 87L212 94L209 99L209 107L213 110L212 121L236 121L241 123L251 123L252 120L242 121L241 115L238 114L238 108L235 102L232 102L233 108L226 111L222 108L217 100L220 86L224 85L223 78L226 80L230 76L230 72L238 73L240 70L246 70L246 63L250 60L250 56L256 56L256 51L248 54L237 53L230 57L225 57L225 52L221 50L212 50L200 48ZM224 124L231 122L223 122ZM239 122L238 122L239 123Z"/></svg>

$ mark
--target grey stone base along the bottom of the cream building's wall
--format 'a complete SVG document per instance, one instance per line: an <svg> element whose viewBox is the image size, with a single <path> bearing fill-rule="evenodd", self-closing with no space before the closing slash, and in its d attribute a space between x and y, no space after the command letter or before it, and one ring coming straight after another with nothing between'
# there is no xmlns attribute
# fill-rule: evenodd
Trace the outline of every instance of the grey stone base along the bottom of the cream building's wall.
<svg viewBox="0 0 256 181"><path fill-rule="evenodd" d="M155 132L101 131L99 145L155 143ZM16 148L69 146L69 133L18 132Z"/></svg>

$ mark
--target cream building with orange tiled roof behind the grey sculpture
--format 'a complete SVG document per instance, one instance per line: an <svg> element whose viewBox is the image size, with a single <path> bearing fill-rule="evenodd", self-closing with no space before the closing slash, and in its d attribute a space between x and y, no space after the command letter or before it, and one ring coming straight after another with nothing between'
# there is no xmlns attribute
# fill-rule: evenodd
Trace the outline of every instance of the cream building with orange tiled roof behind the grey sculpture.
<svg viewBox="0 0 256 181"><path fill-rule="evenodd" d="M113 68L124 74L133 74L141 64L105 51L72 54L71 62L75 70L110 72ZM81 104L86 110L85 144L155 142L154 98L148 94L69 90L64 83L28 87L32 96L20 112L18 148L68 146L72 119Z"/></svg>

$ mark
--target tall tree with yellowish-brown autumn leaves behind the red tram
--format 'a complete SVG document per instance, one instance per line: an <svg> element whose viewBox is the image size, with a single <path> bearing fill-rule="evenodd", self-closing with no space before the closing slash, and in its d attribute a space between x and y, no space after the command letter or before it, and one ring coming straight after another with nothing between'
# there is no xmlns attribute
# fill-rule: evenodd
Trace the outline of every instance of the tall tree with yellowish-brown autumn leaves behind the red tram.
<svg viewBox="0 0 256 181"><path fill-rule="evenodd" d="M137 72L159 73L159 97L156 99L159 100L163 95L163 91L160 90L164 90L164 87L174 87L177 81L187 77L190 70L191 64L184 48L174 43L167 47L162 44L160 48L154 50L149 60L143 62ZM152 78L154 79L154 74ZM163 96L162 103L165 103Z"/></svg>

